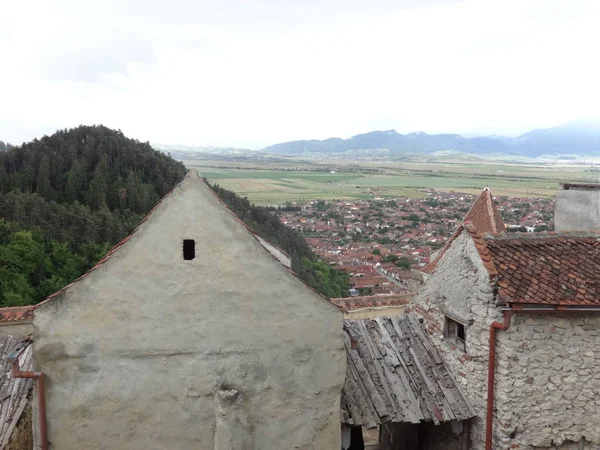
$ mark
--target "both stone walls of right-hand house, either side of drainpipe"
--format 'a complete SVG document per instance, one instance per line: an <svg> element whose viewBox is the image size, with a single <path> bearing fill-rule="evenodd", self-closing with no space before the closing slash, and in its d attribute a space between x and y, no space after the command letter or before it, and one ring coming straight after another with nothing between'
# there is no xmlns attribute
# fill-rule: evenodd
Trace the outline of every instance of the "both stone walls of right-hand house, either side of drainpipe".
<svg viewBox="0 0 600 450"><path fill-rule="evenodd" d="M463 233L413 298L432 341L478 416L471 448L485 448L489 326L502 321L489 277ZM466 324L466 351L446 341L444 316ZM600 448L600 312L515 313L497 334L494 449Z"/></svg>

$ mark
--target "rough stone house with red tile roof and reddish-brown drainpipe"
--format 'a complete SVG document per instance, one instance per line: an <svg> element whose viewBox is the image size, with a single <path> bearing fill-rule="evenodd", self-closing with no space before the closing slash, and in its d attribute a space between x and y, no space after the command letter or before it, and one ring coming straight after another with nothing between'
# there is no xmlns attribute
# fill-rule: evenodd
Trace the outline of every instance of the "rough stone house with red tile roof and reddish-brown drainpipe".
<svg viewBox="0 0 600 450"><path fill-rule="evenodd" d="M470 448L600 448L600 234L505 234L478 202L407 308L474 409Z"/></svg>

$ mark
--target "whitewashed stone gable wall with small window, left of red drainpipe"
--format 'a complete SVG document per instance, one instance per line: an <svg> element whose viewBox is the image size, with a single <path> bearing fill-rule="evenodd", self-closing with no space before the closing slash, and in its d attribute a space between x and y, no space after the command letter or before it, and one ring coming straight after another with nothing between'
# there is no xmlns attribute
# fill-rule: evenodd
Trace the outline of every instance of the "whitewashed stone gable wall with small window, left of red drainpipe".
<svg viewBox="0 0 600 450"><path fill-rule="evenodd" d="M474 450L485 447L489 327L493 321L502 320L492 301L488 272L465 231L446 251L408 308L424 319L433 344L475 409L477 418L471 424ZM466 351L444 339L445 315L465 325Z"/></svg>

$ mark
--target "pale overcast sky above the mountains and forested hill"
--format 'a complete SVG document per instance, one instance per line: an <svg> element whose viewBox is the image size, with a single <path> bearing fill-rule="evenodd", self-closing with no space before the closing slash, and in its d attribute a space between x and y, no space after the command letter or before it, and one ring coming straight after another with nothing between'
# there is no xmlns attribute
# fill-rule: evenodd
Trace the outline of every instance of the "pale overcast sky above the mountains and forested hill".
<svg viewBox="0 0 600 450"><path fill-rule="evenodd" d="M598 0L0 0L0 140L257 148L598 118Z"/></svg>

